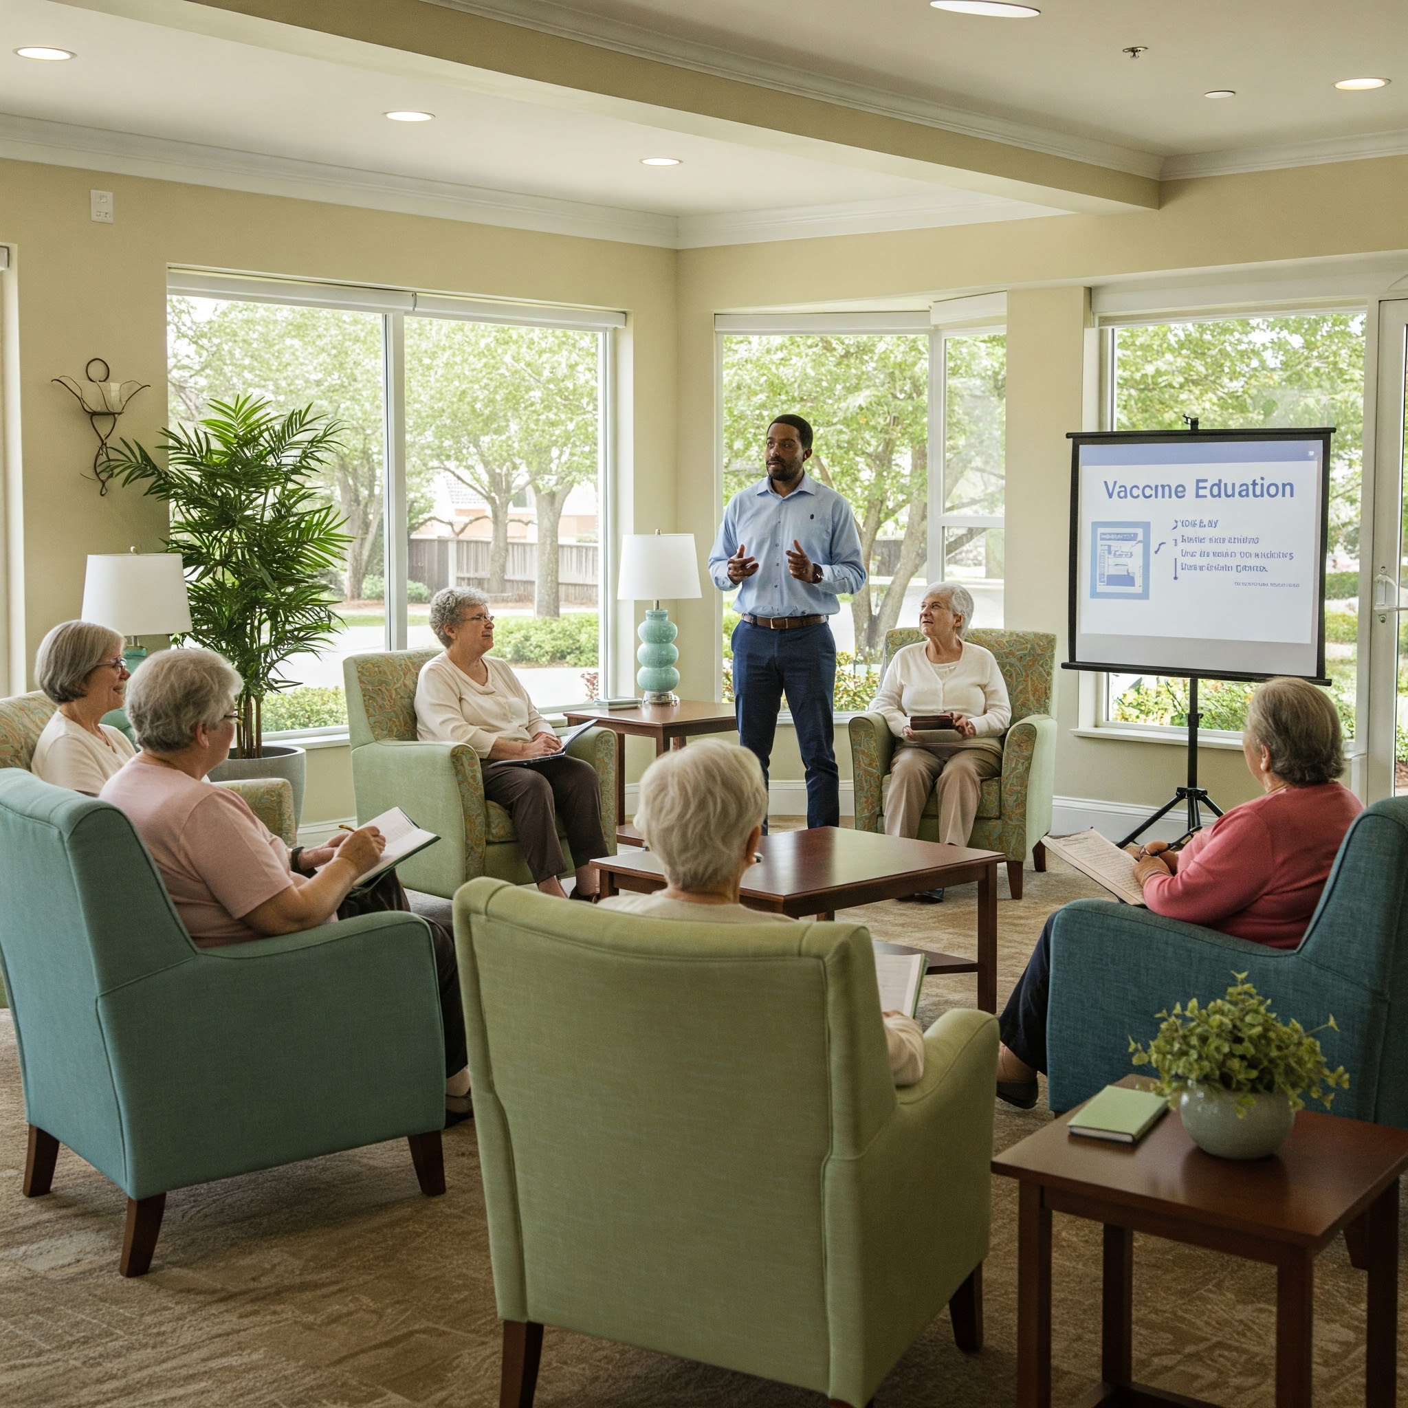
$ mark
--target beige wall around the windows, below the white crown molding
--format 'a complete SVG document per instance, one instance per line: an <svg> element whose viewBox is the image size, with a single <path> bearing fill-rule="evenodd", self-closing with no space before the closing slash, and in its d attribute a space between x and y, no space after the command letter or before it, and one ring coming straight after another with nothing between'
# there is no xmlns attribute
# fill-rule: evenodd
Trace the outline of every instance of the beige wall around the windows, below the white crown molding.
<svg viewBox="0 0 1408 1408"><path fill-rule="evenodd" d="M114 225L89 220L92 187L114 191ZM1401 251L1408 245L1408 159L1173 183L1156 211L679 253L0 162L0 241L14 251L0 310L8 320L0 365L7 497L23 496L23 518L10 531L10 689L24 687L44 631L77 612L86 553L159 546L158 503L121 489L100 498L82 477L93 458L92 432L51 377L82 376L84 362L99 355L114 376L151 382L121 425L151 444L165 418L169 263L624 308L631 322L617 365L615 527L694 532L701 562L719 511L715 311L876 298L922 306L934 296L1007 289L1007 620L1060 635L1064 432L1081 427L1090 390L1084 289L1126 275ZM18 363L8 356L15 349ZM705 596L673 614L681 693L708 698L717 596L707 577L704 584ZM634 674L638 620L635 608L617 636L617 687ZM1181 752L1071 738L1076 697L1076 679L1060 674L1057 791L1131 803L1171 793L1181 780ZM641 762L632 752L632 776ZM1208 752L1202 762L1219 801L1246 796L1236 755ZM845 756L842 773L849 773ZM783 732L773 776L800 774L794 742ZM344 749L322 750L310 763L306 810L308 819L351 811Z"/></svg>

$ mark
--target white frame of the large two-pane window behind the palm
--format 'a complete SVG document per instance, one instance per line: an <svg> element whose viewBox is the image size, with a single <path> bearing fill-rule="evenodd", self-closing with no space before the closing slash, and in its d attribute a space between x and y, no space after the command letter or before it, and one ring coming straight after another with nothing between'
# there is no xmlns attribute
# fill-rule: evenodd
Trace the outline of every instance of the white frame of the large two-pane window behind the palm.
<svg viewBox="0 0 1408 1408"><path fill-rule="evenodd" d="M614 659L615 604L607 590L615 567L610 543L614 536L614 446L615 438L615 353L618 334L627 327L627 314L607 308L570 307L566 304L517 303L474 298L458 294L394 289L379 284L353 284L307 279L280 279L193 269L172 265L166 270L166 297L217 298L221 301L273 303L291 307L327 308L332 313L373 313L382 318L382 551L386 624L383 642L387 650L404 650L408 641L406 573L407 487L406 487L406 318L459 320L493 322L507 327L562 328L597 335L597 513L601 529L598 570L598 669L608 676ZM394 570L393 570L394 567ZM565 700L543 705L546 714L570 708L582 701ZM283 729L266 732L272 741L301 748L325 748L346 743L346 725Z"/></svg>

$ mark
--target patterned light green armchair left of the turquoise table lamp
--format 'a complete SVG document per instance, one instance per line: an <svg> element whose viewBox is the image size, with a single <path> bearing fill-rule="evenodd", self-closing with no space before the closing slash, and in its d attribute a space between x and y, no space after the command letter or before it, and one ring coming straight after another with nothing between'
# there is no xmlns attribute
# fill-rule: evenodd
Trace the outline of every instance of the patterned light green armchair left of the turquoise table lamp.
<svg viewBox="0 0 1408 1408"><path fill-rule="evenodd" d="M421 743L415 738L415 680L438 650L386 650L351 655L342 662L346 680L348 731L352 742L352 786L362 821L390 807L403 807L418 826L441 839L400 865L410 890L451 898L474 876L498 876L514 884L532 883L514 824L498 803L484 800L479 755L466 743ZM591 728L567 745L601 777L601 831L615 852L615 735ZM560 831L560 826L559 826ZM566 836L562 853L572 874Z"/></svg>

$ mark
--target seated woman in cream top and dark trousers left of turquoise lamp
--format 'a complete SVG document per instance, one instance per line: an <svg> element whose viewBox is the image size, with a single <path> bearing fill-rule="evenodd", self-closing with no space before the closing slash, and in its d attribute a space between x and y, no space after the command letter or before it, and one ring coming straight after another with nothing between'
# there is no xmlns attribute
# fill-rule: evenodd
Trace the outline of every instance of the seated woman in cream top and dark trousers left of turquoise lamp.
<svg viewBox="0 0 1408 1408"><path fill-rule="evenodd" d="M417 736L474 749L484 797L513 817L534 883L543 894L565 898L558 879L566 865L558 839L560 815L577 863L572 898L596 900L597 874L587 862L607 853L597 770L562 752L518 676L489 653L494 618L479 591L436 591L431 629L445 650L425 662L415 684Z"/></svg>

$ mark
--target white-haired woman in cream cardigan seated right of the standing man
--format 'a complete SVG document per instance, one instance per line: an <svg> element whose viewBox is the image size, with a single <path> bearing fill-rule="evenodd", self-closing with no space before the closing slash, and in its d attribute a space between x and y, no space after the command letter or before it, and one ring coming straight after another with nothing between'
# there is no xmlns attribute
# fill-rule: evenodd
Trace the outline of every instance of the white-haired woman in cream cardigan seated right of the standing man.
<svg viewBox="0 0 1408 1408"><path fill-rule="evenodd" d="M918 836L929 793L936 793L939 841L966 846L986 777L1002 770L1002 734L1012 721L1007 681L991 650L964 641L973 597L956 582L929 587L919 605L924 639L894 652L872 705L900 739L890 763L884 829L890 836ZM919 738L912 719L948 714L959 736L949 742ZM936 901L942 890L922 890L915 900Z"/></svg>

